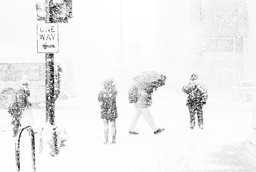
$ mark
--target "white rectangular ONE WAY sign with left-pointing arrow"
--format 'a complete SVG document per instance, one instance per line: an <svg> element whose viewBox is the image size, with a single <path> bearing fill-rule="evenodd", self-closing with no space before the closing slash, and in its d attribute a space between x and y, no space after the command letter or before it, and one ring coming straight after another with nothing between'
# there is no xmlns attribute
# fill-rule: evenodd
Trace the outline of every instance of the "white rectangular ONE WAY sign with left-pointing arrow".
<svg viewBox="0 0 256 172"><path fill-rule="evenodd" d="M37 53L59 52L59 30L57 23L37 24Z"/></svg>

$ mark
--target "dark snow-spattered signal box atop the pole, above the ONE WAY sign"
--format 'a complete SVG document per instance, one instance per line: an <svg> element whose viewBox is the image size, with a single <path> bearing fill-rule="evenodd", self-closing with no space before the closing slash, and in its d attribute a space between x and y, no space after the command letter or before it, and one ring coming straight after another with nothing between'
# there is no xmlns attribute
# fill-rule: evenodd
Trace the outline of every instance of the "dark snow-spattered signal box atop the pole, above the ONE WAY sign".
<svg viewBox="0 0 256 172"><path fill-rule="evenodd" d="M46 23L68 23L73 17L72 0L37 0L36 8L37 20Z"/></svg>

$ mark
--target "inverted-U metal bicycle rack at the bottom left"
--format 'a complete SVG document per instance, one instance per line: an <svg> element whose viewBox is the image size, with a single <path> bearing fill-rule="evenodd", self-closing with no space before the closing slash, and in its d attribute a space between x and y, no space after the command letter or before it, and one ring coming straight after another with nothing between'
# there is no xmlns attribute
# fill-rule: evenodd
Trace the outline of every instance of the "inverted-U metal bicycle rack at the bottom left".
<svg viewBox="0 0 256 172"><path fill-rule="evenodd" d="M31 126L22 127L15 140L15 155L16 155L16 172L20 172L20 139L21 134L26 129L31 136L31 154L32 154L32 172L36 172L36 153L35 153L35 135Z"/></svg>

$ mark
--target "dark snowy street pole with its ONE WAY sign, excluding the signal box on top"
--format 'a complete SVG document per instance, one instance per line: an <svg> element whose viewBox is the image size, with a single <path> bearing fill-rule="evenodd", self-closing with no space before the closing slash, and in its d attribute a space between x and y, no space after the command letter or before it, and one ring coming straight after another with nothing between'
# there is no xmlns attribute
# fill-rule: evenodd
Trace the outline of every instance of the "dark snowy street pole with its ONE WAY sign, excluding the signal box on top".
<svg viewBox="0 0 256 172"><path fill-rule="evenodd" d="M58 23L53 23L52 4L53 0L46 0L45 23L37 24L37 53L45 53L45 103L46 103L46 124L50 124L53 130L51 135L52 148L50 154L58 156L58 144L55 127L54 103L56 95L54 92L54 54L59 52L59 31ZM47 125L46 125L47 126ZM51 128L51 127L49 127ZM42 130L43 132L43 130ZM43 141L43 138L40 138ZM42 148L41 148L42 149Z"/></svg>

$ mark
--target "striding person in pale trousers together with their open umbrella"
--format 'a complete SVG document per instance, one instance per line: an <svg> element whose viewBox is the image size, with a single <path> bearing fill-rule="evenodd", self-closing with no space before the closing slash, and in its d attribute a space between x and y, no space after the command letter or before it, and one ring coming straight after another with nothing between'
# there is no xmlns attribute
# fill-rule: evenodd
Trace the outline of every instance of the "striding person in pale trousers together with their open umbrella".
<svg viewBox="0 0 256 172"><path fill-rule="evenodd" d="M163 128L161 129L156 126L155 121L149 112L149 107L152 105L151 95L153 91L165 84L166 77L156 71L145 71L139 73L133 80L136 85L133 85L130 88L128 94L129 102L134 103L135 114L130 125L129 134L139 134L134 130L141 115L143 115L154 134L163 132Z"/></svg>

